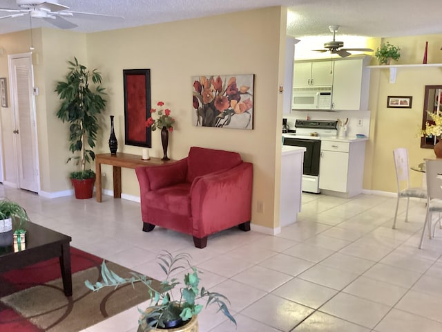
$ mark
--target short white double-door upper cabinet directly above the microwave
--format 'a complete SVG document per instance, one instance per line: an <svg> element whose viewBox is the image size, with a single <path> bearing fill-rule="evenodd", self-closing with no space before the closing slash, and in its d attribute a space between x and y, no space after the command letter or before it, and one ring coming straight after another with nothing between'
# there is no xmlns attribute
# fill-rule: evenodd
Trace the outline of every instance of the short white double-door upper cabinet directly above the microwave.
<svg viewBox="0 0 442 332"><path fill-rule="evenodd" d="M296 61L294 65L294 86L331 86L333 84L333 63L328 61Z"/></svg>

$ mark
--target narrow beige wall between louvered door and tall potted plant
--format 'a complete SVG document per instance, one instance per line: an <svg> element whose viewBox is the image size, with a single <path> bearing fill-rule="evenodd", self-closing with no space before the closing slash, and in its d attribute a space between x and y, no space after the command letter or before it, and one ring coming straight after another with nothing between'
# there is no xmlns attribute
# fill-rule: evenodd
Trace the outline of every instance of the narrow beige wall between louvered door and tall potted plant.
<svg viewBox="0 0 442 332"><path fill-rule="evenodd" d="M44 29L40 54L39 64L35 68L40 68L44 73L37 98L39 153L40 160L43 160L43 165L40 165L41 190L59 192L71 189L68 173L79 167L73 162L66 164L66 160L72 156L68 144L68 124L55 116L60 101L54 91L57 82L64 80L69 71L68 61L77 57L81 64L88 66L86 35Z"/></svg>

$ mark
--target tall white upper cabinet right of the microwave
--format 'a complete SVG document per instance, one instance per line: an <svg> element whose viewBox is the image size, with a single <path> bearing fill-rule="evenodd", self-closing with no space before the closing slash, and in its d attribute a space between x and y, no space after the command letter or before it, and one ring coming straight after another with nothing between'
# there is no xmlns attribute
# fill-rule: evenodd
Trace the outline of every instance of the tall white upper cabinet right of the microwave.
<svg viewBox="0 0 442 332"><path fill-rule="evenodd" d="M369 57L334 60L332 109L336 111L366 111L370 72Z"/></svg>

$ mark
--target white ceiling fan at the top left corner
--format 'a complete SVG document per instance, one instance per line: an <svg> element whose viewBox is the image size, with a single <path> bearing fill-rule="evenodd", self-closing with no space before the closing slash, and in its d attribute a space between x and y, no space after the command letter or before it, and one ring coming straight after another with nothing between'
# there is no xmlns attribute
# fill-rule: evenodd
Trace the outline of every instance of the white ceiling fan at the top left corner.
<svg viewBox="0 0 442 332"><path fill-rule="evenodd" d="M77 27L77 24L64 19L64 17L73 17L77 15L92 15L94 17L113 17L124 19L120 16L94 14L92 12L74 12L68 10L68 6L64 6L58 3L57 0L44 1L44 0L16 0L17 6L21 9L14 8L0 8L0 12L12 12L13 14L0 17L0 19L13 19L15 17L21 17L24 15L30 15L31 18L44 19L50 24L57 26L61 29L70 29Z"/></svg>

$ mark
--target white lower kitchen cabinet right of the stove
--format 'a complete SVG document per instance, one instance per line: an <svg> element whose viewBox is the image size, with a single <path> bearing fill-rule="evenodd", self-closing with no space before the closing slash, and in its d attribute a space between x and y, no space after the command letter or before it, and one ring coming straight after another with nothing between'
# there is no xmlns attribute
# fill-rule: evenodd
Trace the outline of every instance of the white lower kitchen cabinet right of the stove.
<svg viewBox="0 0 442 332"><path fill-rule="evenodd" d="M365 140L322 140L319 187L324 194L352 197L362 192Z"/></svg>

